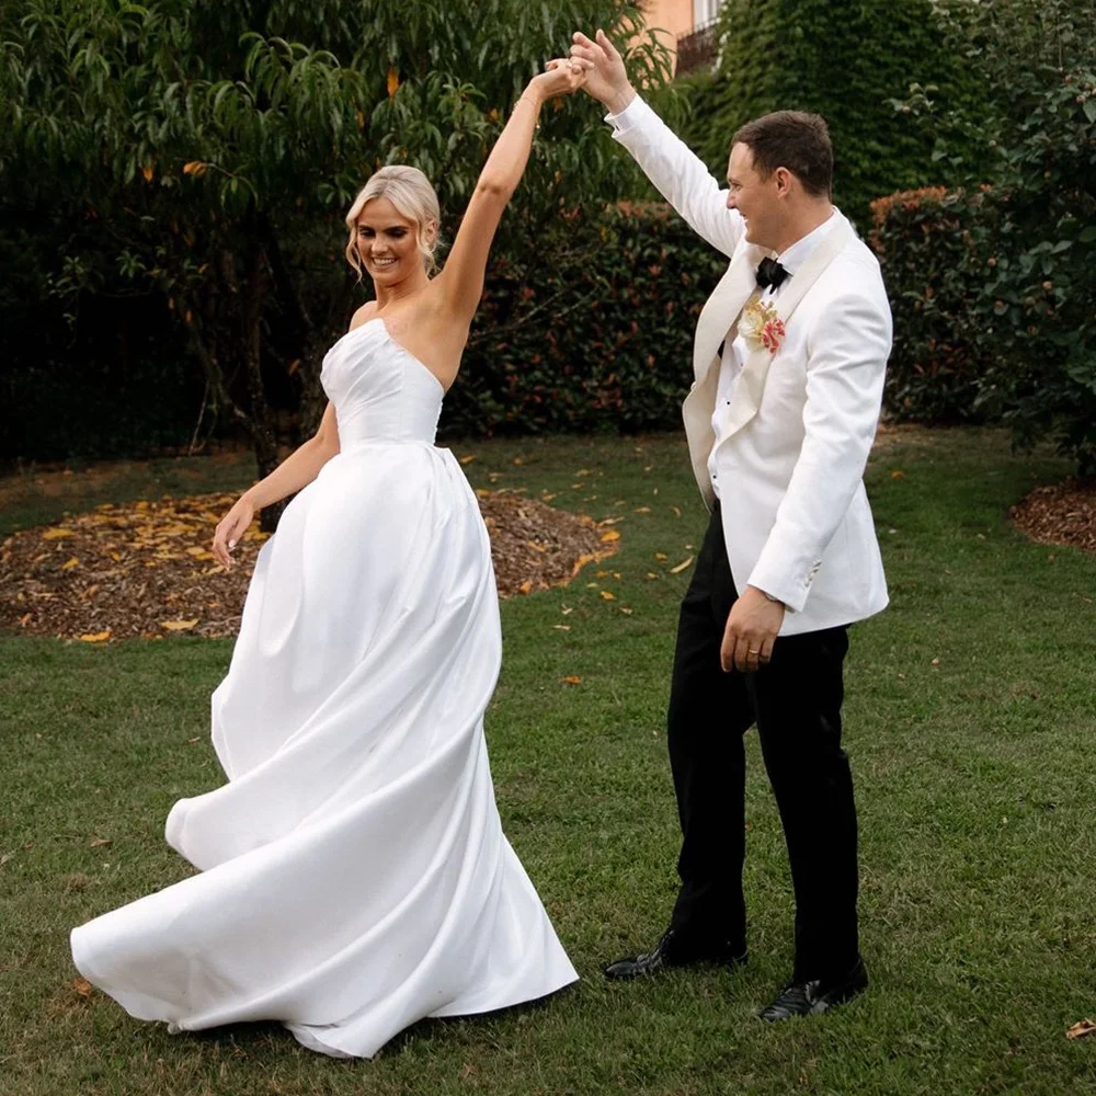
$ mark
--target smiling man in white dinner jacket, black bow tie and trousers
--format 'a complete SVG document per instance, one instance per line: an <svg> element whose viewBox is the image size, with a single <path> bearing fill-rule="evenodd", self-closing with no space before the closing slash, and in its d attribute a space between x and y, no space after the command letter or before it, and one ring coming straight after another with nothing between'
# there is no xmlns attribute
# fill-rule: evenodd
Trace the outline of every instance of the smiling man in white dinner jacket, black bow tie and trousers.
<svg viewBox="0 0 1096 1096"><path fill-rule="evenodd" d="M653 949L605 973L745 962L742 740L756 723L796 894L795 969L760 1015L825 1012L868 982L841 708L848 625L887 605L861 481L891 346L879 264L831 205L821 117L779 111L742 126L720 190L603 32L575 34L571 54L614 137L731 260L697 321L684 406L711 521L681 607L667 716L681 889Z"/></svg>

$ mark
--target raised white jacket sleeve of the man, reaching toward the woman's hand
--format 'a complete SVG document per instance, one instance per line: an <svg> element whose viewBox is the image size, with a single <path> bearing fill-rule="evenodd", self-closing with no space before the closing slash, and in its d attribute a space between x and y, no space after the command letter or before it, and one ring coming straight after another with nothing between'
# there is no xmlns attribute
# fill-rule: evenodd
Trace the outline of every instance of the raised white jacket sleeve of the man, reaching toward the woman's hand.
<svg viewBox="0 0 1096 1096"><path fill-rule="evenodd" d="M724 255L743 233L742 215L728 209L727 191L704 161L637 95L619 114L608 114L618 140L688 226Z"/></svg>

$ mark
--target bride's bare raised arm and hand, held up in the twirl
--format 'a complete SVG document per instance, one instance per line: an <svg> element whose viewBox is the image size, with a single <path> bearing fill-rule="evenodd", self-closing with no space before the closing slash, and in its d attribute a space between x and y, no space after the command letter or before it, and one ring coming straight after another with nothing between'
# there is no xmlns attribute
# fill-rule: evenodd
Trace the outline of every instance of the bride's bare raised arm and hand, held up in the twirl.
<svg viewBox="0 0 1096 1096"><path fill-rule="evenodd" d="M576 62L550 61L547 71L535 76L514 104L480 172L445 269L434 278L435 289L454 319L471 323L479 306L491 241L528 163L540 107L549 99L570 94L584 81L585 72Z"/></svg>

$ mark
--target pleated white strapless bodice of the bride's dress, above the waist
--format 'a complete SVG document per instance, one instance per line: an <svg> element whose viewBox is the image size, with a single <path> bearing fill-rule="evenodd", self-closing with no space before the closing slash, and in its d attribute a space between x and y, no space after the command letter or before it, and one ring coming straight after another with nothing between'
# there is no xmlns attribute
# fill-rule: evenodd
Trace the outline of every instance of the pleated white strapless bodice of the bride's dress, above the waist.
<svg viewBox="0 0 1096 1096"><path fill-rule="evenodd" d="M378 442L434 444L442 383L374 317L323 357L320 384L335 409L343 453Z"/></svg>

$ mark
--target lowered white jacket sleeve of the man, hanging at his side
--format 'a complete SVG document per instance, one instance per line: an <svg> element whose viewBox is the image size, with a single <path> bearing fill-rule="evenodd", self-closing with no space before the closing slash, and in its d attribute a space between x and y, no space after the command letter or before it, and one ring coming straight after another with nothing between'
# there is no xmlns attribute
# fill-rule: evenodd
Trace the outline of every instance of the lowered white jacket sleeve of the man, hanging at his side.
<svg viewBox="0 0 1096 1096"><path fill-rule="evenodd" d="M809 339L803 444L750 575L750 585L792 612L807 604L822 555L864 477L890 347L890 307L869 294L832 300Z"/></svg>

